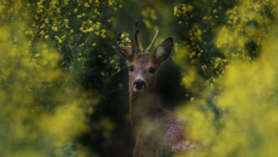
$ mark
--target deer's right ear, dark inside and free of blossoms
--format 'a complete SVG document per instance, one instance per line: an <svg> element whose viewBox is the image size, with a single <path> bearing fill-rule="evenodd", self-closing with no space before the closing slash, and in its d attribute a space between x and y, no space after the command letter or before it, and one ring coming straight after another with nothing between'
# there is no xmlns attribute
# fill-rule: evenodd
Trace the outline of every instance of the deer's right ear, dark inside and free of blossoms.
<svg viewBox="0 0 278 157"><path fill-rule="evenodd" d="M158 49L155 51L155 59L162 62L167 59L172 51L173 48L173 38L165 39L159 46Z"/></svg>

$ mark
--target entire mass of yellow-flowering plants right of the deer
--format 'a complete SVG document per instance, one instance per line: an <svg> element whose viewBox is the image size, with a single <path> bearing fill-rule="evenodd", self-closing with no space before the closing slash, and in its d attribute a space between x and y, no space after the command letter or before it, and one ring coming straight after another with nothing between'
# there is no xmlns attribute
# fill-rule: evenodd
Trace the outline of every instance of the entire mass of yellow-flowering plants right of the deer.
<svg viewBox="0 0 278 157"><path fill-rule="evenodd" d="M175 46L173 60L190 101L177 111L191 126L189 136L206 150L177 156L277 156L277 2L242 0L220 14L217 4L230 4L213 1L200 24L182 21L192 39ZM179 7L174 14L180 18ZM203 50L200 57L195 44Z"/></svg>

